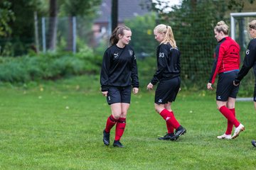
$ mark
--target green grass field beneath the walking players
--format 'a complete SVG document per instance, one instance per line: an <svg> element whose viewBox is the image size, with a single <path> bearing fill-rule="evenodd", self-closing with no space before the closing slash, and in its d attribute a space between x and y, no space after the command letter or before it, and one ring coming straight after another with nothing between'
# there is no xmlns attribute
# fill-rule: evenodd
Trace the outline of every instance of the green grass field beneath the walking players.
<svg viewBox="0 0 256 170"><path fill-rule="evenodd" d="M110 108L98 89L97 77L0 84L0 169L256 169L251 101L236 106L245 132L218 140L226 120L214 92L181 91L172 108L187 133L159 141L166 125L154 111L154 93L144 91L132 96L125 147L115 148L102 142Z"/></svg>

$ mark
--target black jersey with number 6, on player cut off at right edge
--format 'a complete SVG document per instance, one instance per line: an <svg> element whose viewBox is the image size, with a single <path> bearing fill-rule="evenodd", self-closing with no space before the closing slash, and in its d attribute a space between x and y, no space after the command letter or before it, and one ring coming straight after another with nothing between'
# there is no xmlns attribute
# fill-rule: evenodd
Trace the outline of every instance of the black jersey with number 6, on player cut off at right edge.
<svg viewBox="0 0 256 170"><path fill-rule="evenodd" d="M235 79L235 83L238 84L243 77L249 72L250 68L256 62L256 39L252 39L249 42L247 50L245 52L245 59L242 64L242 69L238 73L238 77ZM256 77L256 74L255 74Z"/></svg>

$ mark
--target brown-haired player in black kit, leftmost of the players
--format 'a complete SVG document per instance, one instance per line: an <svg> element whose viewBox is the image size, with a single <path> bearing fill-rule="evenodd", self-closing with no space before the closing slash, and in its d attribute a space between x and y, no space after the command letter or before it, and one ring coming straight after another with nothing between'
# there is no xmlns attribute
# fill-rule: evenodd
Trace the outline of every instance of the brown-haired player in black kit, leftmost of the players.
<svg viewBox="0 0 256 170"><path fill-rule="evenodd" d="M127 26L115 28L102 60L101 91L112 111L103 130L103 142L110 145L110 130L116 125L114 147L124 147L119 140L126 126L131 91L139 92L137 61L134 50L128 45L131 37L132 31Z"/></svg>

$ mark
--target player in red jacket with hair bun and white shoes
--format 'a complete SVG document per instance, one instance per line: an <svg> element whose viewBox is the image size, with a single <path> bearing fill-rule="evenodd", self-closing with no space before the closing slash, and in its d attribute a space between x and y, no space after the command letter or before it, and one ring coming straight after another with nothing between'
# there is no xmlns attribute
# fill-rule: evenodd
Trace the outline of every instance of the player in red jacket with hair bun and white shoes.
<svg viewBox="0 0 256 170"><path fill-rule="evenodd" d="M224 21L217 23L214 28L215 38L218 45L215 49L215 62L207 84L207 89L213 90L215 77L218 74L218 84L216 89L216 103L218 110L228 119L227 130L218 139L235 139L245 127L235 118L235 98L238 94L239 86L233 85L233 80L237 77L240 66L240 47L237 42L228 37L228 26ZM235 132L231 137L233 125Z"/></svg>

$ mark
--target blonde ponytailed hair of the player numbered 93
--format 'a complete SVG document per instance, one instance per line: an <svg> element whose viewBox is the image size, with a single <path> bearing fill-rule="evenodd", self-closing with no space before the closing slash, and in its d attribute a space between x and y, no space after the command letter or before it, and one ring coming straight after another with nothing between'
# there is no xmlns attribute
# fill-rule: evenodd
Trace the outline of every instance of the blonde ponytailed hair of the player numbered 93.
<svg viewBox="0 0 256 170"><path fill-rule="evenodd" d="M165 35L164 40L162 42L160 42L160 44L163 44L163 43L166 44L167 42L169 42L172 47L177 47L176 41L174 39L174 33L171 29L171 26L159 24L158 26L156 26L154 28L154 30L156 30L157 33L163 33Z"/></svg>

